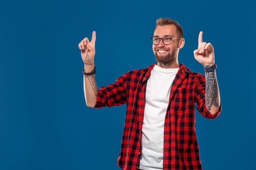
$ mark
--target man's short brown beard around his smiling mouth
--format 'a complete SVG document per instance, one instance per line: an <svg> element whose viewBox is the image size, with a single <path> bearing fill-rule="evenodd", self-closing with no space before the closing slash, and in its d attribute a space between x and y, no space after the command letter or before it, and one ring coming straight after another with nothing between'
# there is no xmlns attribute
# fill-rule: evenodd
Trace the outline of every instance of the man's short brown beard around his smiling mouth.
<svg viewBox="0 0 256 170"><path fill-rule="evenodd" d="M178 47L175 47L173 51L169 51L169 53L166 55L158 55L157 52L155 52L155 60L162 64L173 64L173 62L176 60L177 52Z"/></svg>

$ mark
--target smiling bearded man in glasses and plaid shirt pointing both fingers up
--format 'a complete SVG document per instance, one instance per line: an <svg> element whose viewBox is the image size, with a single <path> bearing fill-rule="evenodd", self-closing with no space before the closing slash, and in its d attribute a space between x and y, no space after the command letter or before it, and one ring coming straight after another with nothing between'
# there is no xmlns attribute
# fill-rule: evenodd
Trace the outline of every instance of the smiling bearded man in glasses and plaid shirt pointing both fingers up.
<svg viewBox="0 0 256 170"><path fill-rule="evenodd" d="M115 83L97 88L94 66L96 33L79 43L84 62L84 93L89 107L127 104L126 120L117 164L123 170L201 170L195 135L195 104L204 117L220 114L220 95L211 43L198 37L195 59L205 77L178 62L184 46L180 24L159 18L153 52L157 64L129 71Z"/></svg>

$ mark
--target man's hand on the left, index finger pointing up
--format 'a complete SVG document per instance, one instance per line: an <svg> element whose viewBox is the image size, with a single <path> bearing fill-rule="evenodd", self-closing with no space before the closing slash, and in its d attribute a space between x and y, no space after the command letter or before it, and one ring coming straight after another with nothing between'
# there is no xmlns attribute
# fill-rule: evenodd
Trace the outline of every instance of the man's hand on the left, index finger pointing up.
<svg viewBox="0 0 256 170"><path fill-rule="evenodd" d="M81 56L85 64L93 64L95 56L95 41L96 41L96 32L92 32L92 40L89 41L88 38L84 38L79 44L78 47L81 50Z"/></svg>

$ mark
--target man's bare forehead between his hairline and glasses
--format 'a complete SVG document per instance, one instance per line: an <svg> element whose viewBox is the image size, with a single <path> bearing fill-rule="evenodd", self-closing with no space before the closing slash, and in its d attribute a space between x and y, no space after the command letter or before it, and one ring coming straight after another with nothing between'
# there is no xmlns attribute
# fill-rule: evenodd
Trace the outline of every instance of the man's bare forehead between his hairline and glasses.
<svg viewBox="0 0 256 170"><path fill-rule="evenodd" d="M165 36L165 35L171 35L176 36L177 35L177 28L175 25L164 25L164 26L157 26L154 32L154 36Z"/></svg>

